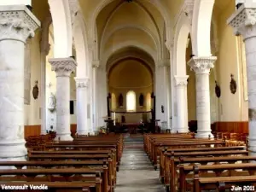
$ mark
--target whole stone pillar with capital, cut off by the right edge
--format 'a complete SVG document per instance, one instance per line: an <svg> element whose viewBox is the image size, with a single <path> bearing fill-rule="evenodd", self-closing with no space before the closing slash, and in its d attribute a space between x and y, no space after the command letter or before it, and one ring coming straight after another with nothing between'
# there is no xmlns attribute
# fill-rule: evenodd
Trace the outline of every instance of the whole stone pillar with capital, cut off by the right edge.
<svg viewBox="0 0 256 192"><path fill-rule="evenodd" d="M241 35L246 47L247 90L249 113L249 150L256 154L256 3L243 3L235 14L230 16L228 24L236 35Z"/></svg>

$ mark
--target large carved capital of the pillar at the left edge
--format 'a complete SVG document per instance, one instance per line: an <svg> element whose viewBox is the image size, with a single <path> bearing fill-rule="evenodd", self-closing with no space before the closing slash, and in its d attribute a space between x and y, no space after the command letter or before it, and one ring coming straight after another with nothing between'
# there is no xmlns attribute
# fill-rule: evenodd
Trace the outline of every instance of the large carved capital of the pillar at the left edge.
<svg viewBox="0 0 256 192"><path fill-rule="evenodd" d="M15 39L26 43L26 38L32 38L40 25L25 5L0 6L0 40Z"/></svg>

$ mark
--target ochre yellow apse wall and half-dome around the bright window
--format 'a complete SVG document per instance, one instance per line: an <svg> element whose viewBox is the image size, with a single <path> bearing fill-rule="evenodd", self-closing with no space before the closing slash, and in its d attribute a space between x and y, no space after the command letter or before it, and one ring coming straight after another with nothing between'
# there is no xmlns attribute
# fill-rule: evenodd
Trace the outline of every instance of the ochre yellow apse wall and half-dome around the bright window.
<svg viewBox="0 0 256 192"><path fill-rule="evenodd" d="M136 111L148 111L147 95L153 90L153 79L148 68L143 66L139 61L126 60L119 62L110 71L108 82L109 92L116 97L116 112L126 112L126 94L129 90L133 90L136 93ZM144 96L143 108L139 107L139 96L141 93ZM124 98L123 108L119 108L120 94ZM117 114L116 118L120 121L121 115ZM131 122L138 122L142 119L141 114L125 114L125 118Z"/></svg>

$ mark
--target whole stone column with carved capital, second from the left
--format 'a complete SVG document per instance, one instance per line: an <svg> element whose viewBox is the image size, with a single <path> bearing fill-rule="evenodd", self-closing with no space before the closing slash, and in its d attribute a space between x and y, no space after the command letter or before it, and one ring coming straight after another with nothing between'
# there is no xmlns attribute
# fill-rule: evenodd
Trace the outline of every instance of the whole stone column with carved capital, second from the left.
<svg viewBox="0 0 256 192"><path fill-rule="evenodd" d="M49 59L52 70L56 73L56 140L72 141L70 131L70 74L77 63L73 58Z"/></svg>

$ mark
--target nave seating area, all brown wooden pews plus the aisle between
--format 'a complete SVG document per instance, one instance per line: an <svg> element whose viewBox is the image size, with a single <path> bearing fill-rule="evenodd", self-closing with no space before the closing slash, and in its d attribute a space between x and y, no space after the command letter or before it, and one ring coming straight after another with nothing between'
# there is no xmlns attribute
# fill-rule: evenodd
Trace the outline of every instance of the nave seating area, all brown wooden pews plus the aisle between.
<svg viewBox="0 0 256 192"><path fill-rule="evenodd" d="M256 164L250 163L256 157L247 151L247 143L199 139L195 133L80 136L72 142L51 141L53 137L28 140L27 161L0 161L1 187L9 189L3 191L16 192L29 184L40 189L32 191L56 192L256 187Z"/></svg>

